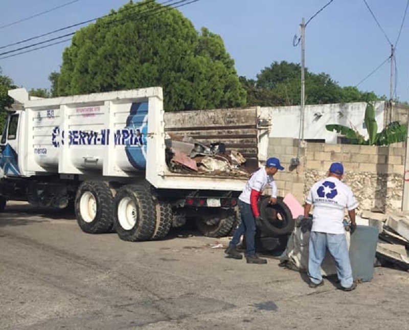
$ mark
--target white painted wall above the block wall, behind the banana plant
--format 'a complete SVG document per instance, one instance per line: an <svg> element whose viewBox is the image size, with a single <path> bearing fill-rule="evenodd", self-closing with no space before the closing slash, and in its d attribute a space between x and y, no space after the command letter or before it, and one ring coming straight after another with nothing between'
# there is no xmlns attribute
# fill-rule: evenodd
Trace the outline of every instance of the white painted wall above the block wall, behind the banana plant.
<svg viewBox="0 0 409 330"><path fill-rule="evenodd" d="M325 139L327 143L336 143L338 133L328 132L325 128L328 124L354 127L360 134L368 137L363 122L366 107L366 102L305 106L304 139ZM269 137L299 138L301 127L300 109L300 106L262 107L261 113L264 116L271 117ZM383 129L384 109L384 101L375 103L378 132Z"/></svg>

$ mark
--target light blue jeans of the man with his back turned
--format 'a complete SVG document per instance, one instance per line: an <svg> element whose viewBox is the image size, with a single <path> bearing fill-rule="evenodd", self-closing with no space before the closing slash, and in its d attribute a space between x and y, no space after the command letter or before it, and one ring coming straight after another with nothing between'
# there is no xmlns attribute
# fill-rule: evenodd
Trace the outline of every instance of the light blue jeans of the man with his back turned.
<svg viewBox="0 0 409 330"><path fill-rule="evenodd" d="M311 232L308 256L308 277L311 282L318 284L323 280L321 263L325 258L327 248L335 260L336 274L343 287L350 287L353 283L351 262L347 238L345 234L328 234Z"/></svg>

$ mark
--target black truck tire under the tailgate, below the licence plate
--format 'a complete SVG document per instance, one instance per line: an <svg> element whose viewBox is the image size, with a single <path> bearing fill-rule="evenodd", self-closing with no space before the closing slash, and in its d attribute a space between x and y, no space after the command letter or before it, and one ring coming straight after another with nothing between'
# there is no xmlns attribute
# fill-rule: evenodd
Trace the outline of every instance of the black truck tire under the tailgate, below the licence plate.
<svg viewBox="0 0 409 330"><path fill-rule="evenodd" d="M199 232L206 237L224 237L230 233L236 215L233 210L204 210L196 217Z"/></svg>

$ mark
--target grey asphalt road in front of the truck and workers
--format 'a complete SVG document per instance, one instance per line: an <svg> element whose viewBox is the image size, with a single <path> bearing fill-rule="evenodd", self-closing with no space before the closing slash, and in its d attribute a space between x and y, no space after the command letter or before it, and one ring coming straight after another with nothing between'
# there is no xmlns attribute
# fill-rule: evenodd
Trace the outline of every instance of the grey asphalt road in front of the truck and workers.
<svg viewBox="0 0 409 330"><path fill-rule="evenodd" d="M121 241L22 203L0 214L0 329L404 329L409 274L377 268L353 292L225 259L199 236Z"/></svg>

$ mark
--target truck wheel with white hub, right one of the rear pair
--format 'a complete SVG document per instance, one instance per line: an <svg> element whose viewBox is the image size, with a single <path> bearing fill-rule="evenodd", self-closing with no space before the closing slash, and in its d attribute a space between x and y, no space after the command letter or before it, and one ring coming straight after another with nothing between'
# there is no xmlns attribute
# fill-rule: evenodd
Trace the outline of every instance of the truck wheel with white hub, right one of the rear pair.
<svg viewBox="0 0 409 330"><path fill-rule="evenodd" d="M150 240L156 228L153 196L144 185L124 185L113 199L113 224L124 241Z"/></svg>

